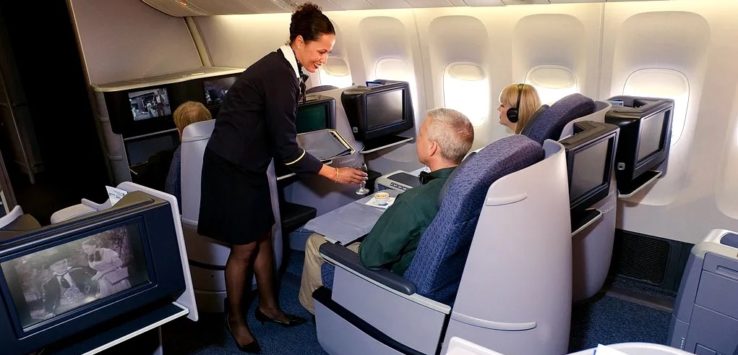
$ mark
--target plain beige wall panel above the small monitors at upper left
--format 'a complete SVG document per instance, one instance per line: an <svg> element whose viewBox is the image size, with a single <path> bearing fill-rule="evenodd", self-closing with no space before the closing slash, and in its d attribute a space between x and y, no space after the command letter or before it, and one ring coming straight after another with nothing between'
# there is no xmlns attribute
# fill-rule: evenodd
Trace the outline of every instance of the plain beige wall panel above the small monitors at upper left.
<svg viewBox="0 0 738 355"><path fill-rule="evenodd" d="M69 7L91 84L202 67L184 18L141 1L69 0Z"/></svg>

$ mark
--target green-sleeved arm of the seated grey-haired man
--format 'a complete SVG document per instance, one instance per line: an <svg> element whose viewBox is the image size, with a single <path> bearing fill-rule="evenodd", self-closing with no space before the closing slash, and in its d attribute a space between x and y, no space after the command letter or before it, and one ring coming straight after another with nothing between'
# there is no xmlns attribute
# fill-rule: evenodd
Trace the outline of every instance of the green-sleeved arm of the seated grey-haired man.
<svg viewBox="0 0 738 355"><path fill-rule="evenodd" d="M408 213L414 207L397 197L395 203L379 217L371 232L359 246L361 263L371 269L378 269L400 260L402 251L410 236L420 228L415 221L415 213Z"/></svg>

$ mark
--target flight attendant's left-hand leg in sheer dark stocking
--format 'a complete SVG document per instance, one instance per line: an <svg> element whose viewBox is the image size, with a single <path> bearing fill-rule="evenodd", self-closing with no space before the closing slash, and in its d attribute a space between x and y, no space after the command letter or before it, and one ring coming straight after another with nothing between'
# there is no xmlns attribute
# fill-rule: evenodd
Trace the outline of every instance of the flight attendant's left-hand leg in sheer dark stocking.
<svg viewBox="0 0 738 355"><path fill-rule="evenodd" d="M225 269L226 295L228 296L227 321L231 333L241 345L254 341L244 317L243 295L246 292L246 275L258 242L231 246Z"/></svg>

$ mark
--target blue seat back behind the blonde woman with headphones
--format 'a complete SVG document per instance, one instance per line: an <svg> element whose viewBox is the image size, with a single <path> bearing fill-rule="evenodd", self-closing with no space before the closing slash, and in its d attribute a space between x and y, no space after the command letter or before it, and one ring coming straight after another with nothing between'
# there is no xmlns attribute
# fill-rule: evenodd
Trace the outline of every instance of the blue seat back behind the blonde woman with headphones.
<svg viewBox="0 0 738 355"><path fill-rule="evenodd" d="M556 101L535 119L528 122L522 135L543 144L546 139L559 140L561 131L571 120L594 112L595 103L582 94L571 94Z"/></svg>

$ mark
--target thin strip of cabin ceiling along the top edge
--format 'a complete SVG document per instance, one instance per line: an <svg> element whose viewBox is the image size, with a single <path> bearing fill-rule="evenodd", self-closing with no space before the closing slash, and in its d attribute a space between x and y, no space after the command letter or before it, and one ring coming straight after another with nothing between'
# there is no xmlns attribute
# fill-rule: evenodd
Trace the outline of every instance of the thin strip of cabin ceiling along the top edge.
<svg viewBox="0 0 738 355"><path fill-rule="evenodd" d="M299 0L142 0L170 16L212 16L292 12ZM312 0L324 11L404 9L423 7L504 6L613 2L634 0Z"/></svg>

